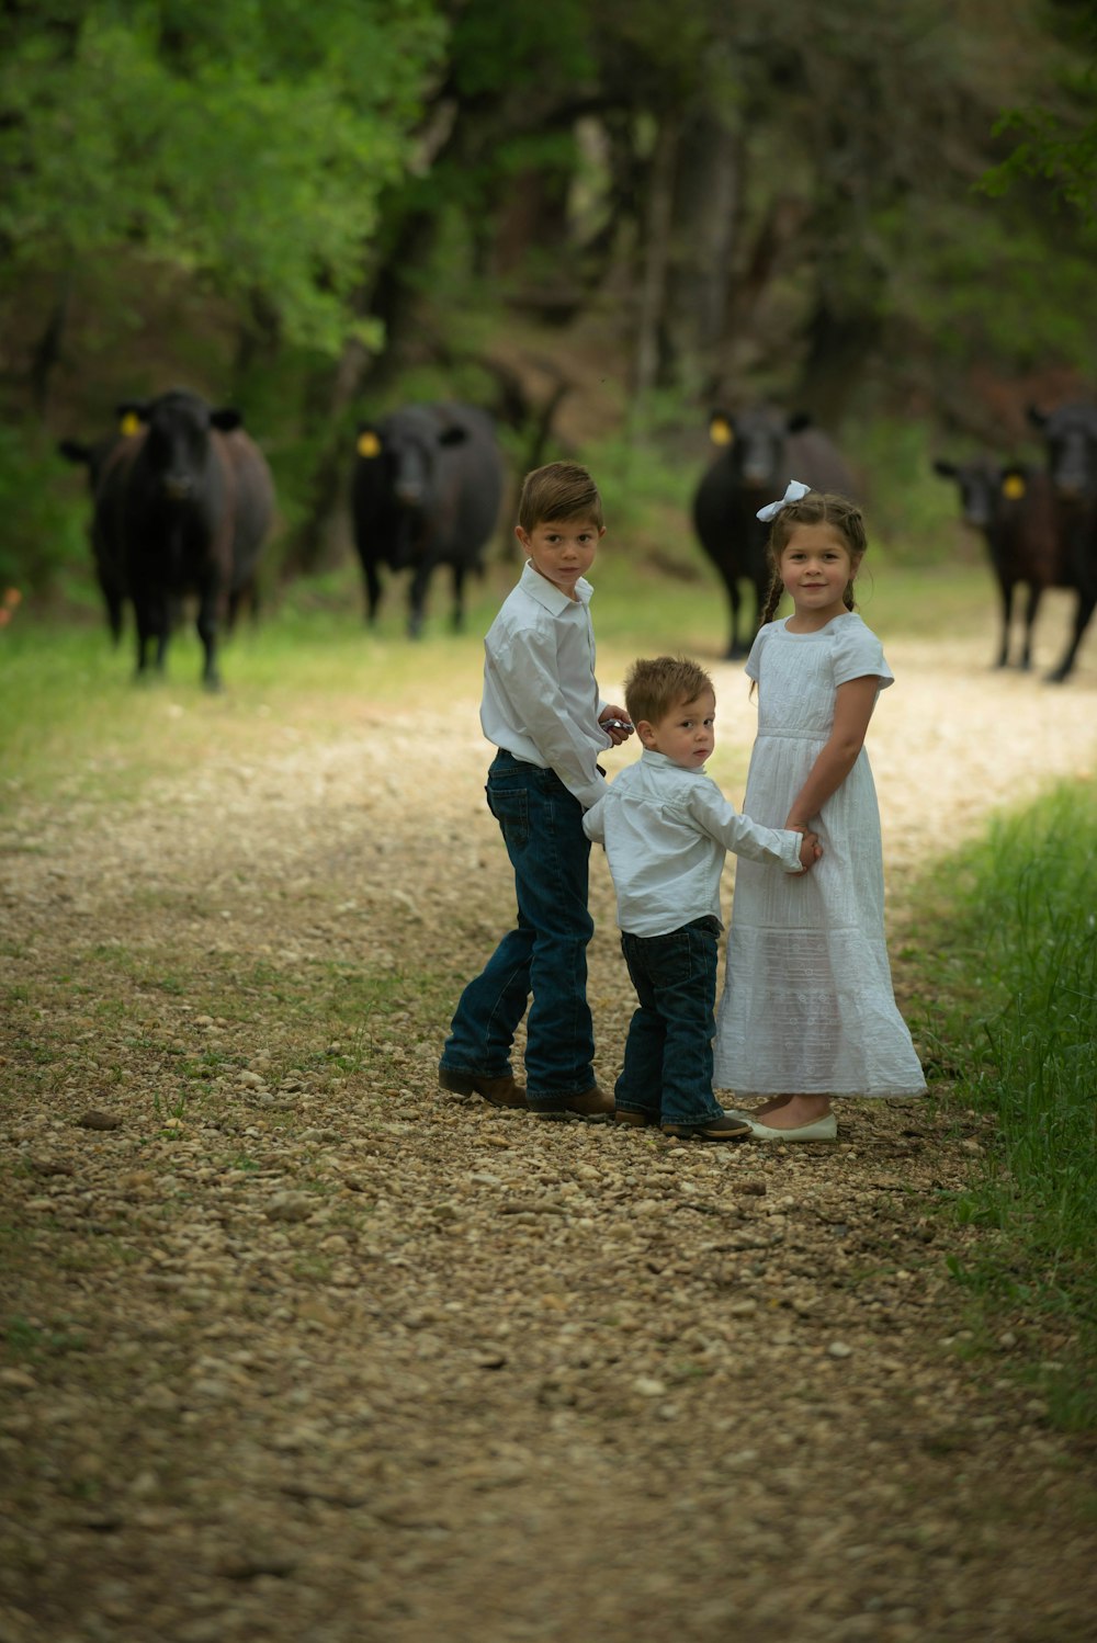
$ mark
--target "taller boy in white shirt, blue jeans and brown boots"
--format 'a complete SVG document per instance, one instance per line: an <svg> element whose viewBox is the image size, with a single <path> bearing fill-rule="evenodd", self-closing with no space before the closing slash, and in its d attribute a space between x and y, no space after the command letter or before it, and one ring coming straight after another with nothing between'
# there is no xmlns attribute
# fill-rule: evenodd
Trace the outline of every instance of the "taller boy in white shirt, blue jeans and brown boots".
<svg viewBox="0 0 1097 1643"><path fill-rule="evenodd" d="M443 1089L583 1117L613 1112L594 1079L586 1002L594 923L583 810L606 790L599 754L632 734L594 679L585 573L604 531L586 468L552 462L526 476L517 537L529 560L484 639L480 710L499 749L486 792L514 868L517 925L461 992L438 1063ZM530 992L522 1088L511 1048Z"/></svg>

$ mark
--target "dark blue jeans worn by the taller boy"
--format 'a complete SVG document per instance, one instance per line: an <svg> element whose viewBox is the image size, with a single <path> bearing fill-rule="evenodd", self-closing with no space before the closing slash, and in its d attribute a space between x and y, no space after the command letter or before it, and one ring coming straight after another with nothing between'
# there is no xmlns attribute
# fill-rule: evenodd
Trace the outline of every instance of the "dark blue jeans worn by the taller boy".
<svg viewBox="0 0 1097 1643"><path fill-rule="evenodd" d="M530 991L526 1099L550 1106L594 1086L594 1030L586 1004L590 840L583 807L555 771L499 751L488 771L488 807L514 868L517 928L458 999L442 1066L501 1078Z"/></svg>

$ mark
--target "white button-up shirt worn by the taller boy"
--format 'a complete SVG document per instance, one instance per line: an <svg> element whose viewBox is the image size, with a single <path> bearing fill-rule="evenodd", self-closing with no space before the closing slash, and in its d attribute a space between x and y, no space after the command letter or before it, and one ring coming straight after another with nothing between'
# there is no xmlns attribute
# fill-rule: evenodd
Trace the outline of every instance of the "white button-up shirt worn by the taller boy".
<svg viewBox="0 0 1097 1643"><path fill-rule="evenodd" d="M527 560L484 637L480 723L516 759L557 772L581 805L606 792L598 756L613 746L598 723L590 582L570 600Z"/></svg>

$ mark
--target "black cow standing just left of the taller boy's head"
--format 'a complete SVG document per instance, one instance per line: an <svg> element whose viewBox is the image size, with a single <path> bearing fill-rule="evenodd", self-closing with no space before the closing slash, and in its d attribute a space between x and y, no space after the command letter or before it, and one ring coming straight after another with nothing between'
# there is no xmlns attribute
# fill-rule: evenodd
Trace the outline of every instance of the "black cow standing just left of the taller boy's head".
<svg viewBox="0 0 1097 1643"><path fill-rule="evenodd" d="M480 572L503 498L503 457L491 417L473 406L420 404L361 422L351 475L355 547L366 621L381 601L379 567L411 570L407 631L422 631L437 565L453 573L453 628L465 618L465 575Z"/></svg>

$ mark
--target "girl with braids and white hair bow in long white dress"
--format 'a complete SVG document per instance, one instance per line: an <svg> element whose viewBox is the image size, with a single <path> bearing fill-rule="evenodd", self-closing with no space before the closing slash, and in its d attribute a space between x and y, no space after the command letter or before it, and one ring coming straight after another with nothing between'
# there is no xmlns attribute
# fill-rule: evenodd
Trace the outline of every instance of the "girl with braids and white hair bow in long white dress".
<svg viewBox="0 0 1097 1643"><path fill-rule="evenodd" d="M823 859L803 877L736 864L713 1083L765 1098L746 1114L759 1140L834 1140L833 1096L926 1088L892 992L880 813L864 749L893 675L854 614L861 511L793 480L759 519L772 521L772 583L746 667L759 733L742 813L811 828ZM785 593L793 613L773 621Z"/></svg>

